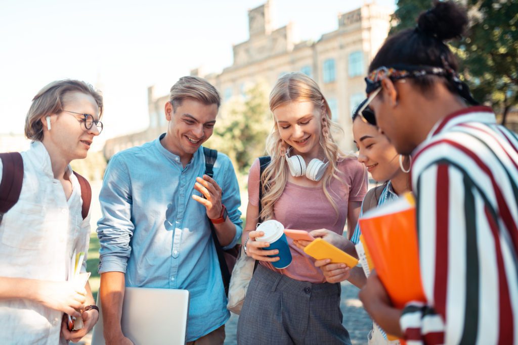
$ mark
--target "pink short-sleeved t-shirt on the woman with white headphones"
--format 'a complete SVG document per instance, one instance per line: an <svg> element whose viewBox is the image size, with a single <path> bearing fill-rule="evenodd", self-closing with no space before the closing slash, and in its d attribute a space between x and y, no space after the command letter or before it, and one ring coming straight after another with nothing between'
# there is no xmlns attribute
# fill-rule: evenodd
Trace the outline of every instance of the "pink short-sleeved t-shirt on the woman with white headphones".
<svg viewBox="0 0 518 345"><path fill-rule="evenodd" d="M338 162L340 181L334 178L327 189L338 207L338 217L333 205L327 200L322 187L303 187L287 182L281 197L274 205L274 219L281 222L285 229L307 230L329 229L343 233L347 220L349 201L362 201L367 192L367 172L356 158L344 158ZM250 168L248 176L248 201L259 204L259 159ZM315 260L303 250L298 249L293 240L287 237L293 261L290 266L278 269L270 263L260 263L272 271L290 278L321 283L325 281L320 268L315 267Z"/></svg>

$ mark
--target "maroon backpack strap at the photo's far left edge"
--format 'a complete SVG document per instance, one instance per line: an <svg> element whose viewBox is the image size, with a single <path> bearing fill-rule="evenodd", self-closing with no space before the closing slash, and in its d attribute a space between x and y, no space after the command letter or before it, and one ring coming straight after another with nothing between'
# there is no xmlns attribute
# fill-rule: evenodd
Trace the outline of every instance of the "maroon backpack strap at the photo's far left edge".
<svg viewBox="0 0 518 345"><path fill-rule="evenodd" d="M20 198L23 182L23 159L19 152L1 153L2 182L0 182L0 223L4 214Z"/></svg>

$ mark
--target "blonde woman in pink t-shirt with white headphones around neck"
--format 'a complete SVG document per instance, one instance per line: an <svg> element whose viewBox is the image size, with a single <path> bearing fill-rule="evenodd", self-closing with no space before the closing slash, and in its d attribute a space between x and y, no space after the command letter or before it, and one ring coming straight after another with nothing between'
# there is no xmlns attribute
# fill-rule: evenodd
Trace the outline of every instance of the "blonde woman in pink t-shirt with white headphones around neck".
<svg viewBox="0 0 518 345"><path fill-rule="evenodd" d="M255 228L259 219L275 219L286 229L325 228L341 235L347 220L352 234L367 191L365 168L340 152L328 103L305 74L289 73L277 81L270 110L275 121L266 141L271 162L260 176L256 159L248 180L243 246L259 264L239 317L238 343L350 344L342 325L340 284L326 282L314 260L289 238L292 262L275 268L278 250L256 241L264 233Z"/></svg>

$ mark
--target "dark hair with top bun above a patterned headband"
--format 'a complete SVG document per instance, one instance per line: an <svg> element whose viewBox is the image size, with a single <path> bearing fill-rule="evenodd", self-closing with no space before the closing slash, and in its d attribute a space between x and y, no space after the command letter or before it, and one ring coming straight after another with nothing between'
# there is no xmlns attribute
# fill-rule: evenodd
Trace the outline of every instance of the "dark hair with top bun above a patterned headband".
<svg viewBox="0 0 518 345"><path fill-rule="evenodd" d="M449 67L455 72L458 64L445 40L459 38L468 24L465 9L452 1L434 1L434 7L422 12L415 28L405 29L390 36L383 43L369 66L369 72L381 66L413 65ZM426 91L436 76L425 75L412 78L422 91ZM456 92L453 83L447 83Z"/></svg>

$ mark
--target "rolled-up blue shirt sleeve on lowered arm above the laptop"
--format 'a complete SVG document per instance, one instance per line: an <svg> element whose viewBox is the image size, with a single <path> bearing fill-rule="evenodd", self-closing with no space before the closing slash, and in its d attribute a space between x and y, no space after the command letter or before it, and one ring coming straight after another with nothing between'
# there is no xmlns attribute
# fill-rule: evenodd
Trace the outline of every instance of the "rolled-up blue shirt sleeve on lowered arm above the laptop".
<svg viewBox="0 0 518 345"><path fill-rule="evenodd" d="M100 244L98 272L125 273L135 226L131 220L130 176L119 155L113 156L106 168L99 202L103 216L97 222Z"/></svg>

